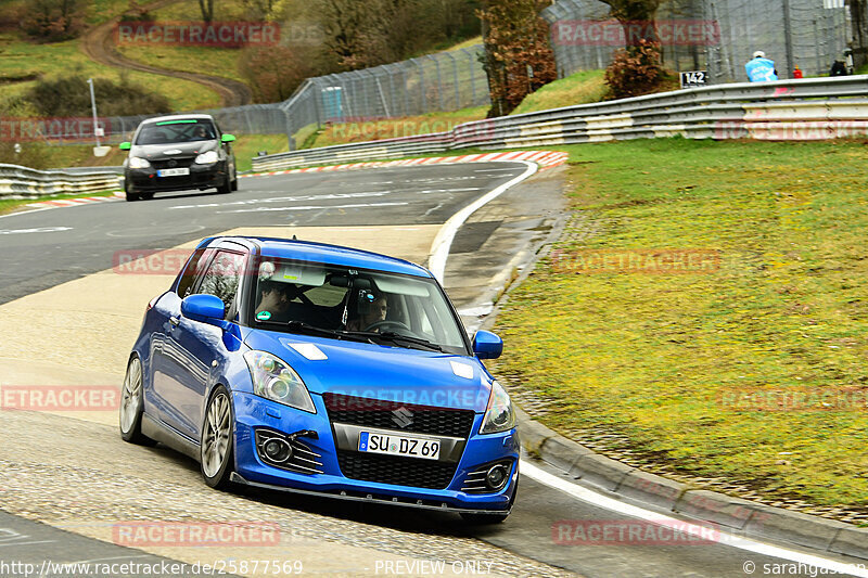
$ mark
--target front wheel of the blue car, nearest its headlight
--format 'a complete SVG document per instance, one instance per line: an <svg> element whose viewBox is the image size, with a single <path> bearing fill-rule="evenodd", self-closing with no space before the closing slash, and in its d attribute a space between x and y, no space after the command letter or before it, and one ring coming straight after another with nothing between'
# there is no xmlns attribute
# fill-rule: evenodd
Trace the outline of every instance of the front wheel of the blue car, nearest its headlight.
<svg viewBox="0 0 868 578"><path fill-rule="evenodd" d="M200 444L200 471L205 484L218 490L229 488L234 470L234 423L229 390L222 385L214 393L205 409Z"/></svg>

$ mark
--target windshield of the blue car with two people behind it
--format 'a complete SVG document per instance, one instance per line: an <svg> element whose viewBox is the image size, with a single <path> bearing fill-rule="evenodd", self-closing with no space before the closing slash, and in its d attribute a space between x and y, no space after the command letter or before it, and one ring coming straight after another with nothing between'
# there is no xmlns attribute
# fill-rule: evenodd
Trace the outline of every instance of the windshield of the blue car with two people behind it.
<svg viewBox="0 0 868 578"><path fill-rule="evenodd" d="M469 355L463 330L432 279L266 258L256 280L257 326Z"/></svg>

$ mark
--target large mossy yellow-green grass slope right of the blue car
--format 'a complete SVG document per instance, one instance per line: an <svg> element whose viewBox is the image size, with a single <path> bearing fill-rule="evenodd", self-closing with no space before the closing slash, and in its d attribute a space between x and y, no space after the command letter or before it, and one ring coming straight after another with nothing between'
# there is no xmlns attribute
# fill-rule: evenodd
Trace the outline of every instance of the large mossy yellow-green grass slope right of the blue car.
<svg viewBox="0 0 868 578"><path fill-rule="evenodd" d="M556 429L617 434L626 441L611 449L649 463L868 512L868 408L722 402L731 391L868 395L865 142L565 150L576 213L562 255L712 249L719 269L591 274L546 259L498 319L508 348L495 372L552 398L542 421Z"/></svg>

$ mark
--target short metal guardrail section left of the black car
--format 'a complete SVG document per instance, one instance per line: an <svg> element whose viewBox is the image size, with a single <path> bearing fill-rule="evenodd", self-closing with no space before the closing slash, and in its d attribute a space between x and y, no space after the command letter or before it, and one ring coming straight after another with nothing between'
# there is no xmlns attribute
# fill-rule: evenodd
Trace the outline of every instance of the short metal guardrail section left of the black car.
<svg viewBox="0 0 868 578"><path fill-rule="evenodd" d="M120 188L122 179L117 168L36 170L18 165L0 165L0 198L116 190Z"/></svg>

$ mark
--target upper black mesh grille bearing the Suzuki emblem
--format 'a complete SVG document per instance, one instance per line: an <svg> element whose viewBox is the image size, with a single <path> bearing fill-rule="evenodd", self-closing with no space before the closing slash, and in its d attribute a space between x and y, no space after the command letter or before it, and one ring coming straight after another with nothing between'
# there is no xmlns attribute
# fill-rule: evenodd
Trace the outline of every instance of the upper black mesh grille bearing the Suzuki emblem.
<svg viewBox="0 0 868 578"><path fill-rule="evenodd" d="M467 439L475 416L472 410L432 408L340 394L324 394L322 397L331 422L379 429Z"/></svg>

